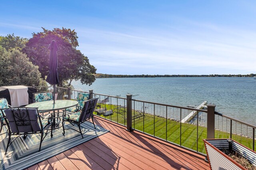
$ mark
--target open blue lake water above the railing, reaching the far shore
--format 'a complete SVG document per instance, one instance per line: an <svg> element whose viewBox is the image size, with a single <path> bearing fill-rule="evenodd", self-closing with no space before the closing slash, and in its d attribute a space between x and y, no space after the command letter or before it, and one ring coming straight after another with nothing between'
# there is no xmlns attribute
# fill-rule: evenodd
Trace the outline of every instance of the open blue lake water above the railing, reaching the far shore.
<svg viewBox="0 0 256 170"><path fill-rule="evenodd" d="M97 78L92 86L72 82L77 90L170 104L216 104L216 111L256 125L256 79L238 77Z"/></svg>

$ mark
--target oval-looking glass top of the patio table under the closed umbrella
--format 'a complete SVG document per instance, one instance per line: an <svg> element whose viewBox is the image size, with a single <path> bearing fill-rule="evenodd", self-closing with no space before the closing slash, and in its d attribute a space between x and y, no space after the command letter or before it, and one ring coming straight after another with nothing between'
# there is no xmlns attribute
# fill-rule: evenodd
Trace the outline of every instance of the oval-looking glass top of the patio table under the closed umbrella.
<svg viewBox="0 0 256 170"><path fill-rule="evenodd" d="M50 100L29 104L26 107L38 107L38 111L55 111L73 107L77 104L78 102L76 100L55 100L55 104L53 104L53 100Z"/></svg>

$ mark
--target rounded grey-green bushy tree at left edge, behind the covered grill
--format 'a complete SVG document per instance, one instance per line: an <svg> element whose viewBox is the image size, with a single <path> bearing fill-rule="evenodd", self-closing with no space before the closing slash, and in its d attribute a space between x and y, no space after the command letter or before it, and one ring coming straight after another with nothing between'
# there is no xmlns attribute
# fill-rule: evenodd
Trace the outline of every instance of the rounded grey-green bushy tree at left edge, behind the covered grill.
<svg viewBox="0 0 256 170"><path fill-rule="evenodd" d="M44 86L38 66L33 65L25 54L17 49L6 51L0 46L0 86Z"/></svg>

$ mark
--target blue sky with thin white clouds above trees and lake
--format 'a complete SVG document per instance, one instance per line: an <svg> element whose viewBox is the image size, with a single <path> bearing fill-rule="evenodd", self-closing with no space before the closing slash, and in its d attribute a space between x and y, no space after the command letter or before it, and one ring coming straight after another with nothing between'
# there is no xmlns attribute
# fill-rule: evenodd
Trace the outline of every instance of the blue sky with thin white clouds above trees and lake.
<svg viewBox="0 0 256 170"><path fill-rule="evenodd" d="M0 35L75 29L97 73L256 73L256 1L0 2Z"/></svg>

